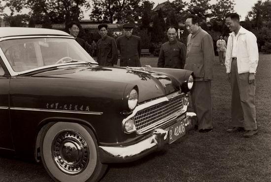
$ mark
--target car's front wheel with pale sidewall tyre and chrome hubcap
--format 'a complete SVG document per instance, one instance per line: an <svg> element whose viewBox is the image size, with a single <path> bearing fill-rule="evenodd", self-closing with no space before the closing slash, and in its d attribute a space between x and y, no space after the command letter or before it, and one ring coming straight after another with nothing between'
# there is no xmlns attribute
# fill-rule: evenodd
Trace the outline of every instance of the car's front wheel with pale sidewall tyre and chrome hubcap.
<svg viewBox="0 0 271 182"><path fill-rule="evenodd" d="M78 123L47 125L41 138L41 160L55 182L97 182L105 173L94 133Z"/></svg>

